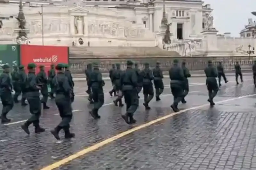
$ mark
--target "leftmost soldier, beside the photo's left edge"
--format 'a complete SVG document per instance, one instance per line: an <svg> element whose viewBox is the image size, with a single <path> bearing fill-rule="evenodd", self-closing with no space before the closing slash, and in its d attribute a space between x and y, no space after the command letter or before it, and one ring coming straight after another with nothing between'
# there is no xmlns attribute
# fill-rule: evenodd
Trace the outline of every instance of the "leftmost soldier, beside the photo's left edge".
<svg viewBox="0 0 256 170"><path fill-rule="evenodd" d="M9 76L10 66L5 64L2 68L4 72L0 75L0 97L3 109L0 118L2 119L2 123L9 123L11 119L8 119L6 115L13 108L12 82Z"/></svg>

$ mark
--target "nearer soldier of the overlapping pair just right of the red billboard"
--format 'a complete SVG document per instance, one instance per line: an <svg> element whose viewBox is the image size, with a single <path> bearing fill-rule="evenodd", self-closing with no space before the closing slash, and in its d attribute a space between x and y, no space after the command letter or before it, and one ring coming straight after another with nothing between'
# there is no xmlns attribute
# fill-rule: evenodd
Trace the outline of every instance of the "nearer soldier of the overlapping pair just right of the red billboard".
<svg viewBox="0 0 256 170"><path fill-rule="evenodd" d="M90 80L90 87L92 87L92 98L94 103L93 109L89 113L94 119L99 119L100 115L98 114L98 111L104 104L103 86L105 85L105 82L102 80L98 63L93 63L93 71L91 72Z"/></svg>

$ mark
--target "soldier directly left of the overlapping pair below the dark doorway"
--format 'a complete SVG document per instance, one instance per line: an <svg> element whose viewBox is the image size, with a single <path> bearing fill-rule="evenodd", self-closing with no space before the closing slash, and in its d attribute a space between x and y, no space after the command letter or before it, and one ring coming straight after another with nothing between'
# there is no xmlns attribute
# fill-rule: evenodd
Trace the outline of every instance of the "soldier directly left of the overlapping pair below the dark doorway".
<svg viewBox="0 0 256 170"><path fill-rule="evenodd" d="M156 62L156 67L153 69L154 76L154 85L156 89L156 101L161 100L160 95L164 91L164 82L163 82L163 71L160 68L160 63Z"/></svg>

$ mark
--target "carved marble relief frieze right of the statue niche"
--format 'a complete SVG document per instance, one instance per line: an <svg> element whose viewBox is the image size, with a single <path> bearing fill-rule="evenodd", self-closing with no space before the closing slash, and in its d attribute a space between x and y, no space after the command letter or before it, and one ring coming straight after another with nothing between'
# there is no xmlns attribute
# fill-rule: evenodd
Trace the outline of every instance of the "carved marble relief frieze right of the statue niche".
<svg viewBox="0 0 256 170"><path fill-rule="evenodd" d="M88 24L89 35L104 37L144 38L145 30L132 25L124 26L122 23L93 20Z"/></svg>

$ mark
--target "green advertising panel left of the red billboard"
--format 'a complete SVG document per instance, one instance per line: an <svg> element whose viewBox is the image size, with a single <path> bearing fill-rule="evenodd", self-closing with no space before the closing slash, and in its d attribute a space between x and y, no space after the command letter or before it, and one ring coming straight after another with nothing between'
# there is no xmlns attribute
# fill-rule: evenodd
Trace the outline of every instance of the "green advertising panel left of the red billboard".
<svg viewBox="0 0 256 170"><path fill-rule="evenodd" d="M0 45L0 72L2 66L8 64L11 67L20 64L20 46L16 44Z"/></svg>

